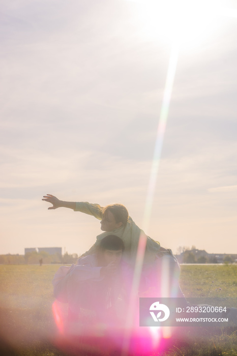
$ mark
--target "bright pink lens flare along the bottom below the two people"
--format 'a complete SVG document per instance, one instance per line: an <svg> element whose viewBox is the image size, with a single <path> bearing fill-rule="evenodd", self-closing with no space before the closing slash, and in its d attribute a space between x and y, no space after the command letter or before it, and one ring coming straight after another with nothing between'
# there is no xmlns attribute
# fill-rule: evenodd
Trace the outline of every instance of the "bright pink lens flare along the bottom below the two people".
<svg viewBox="0 0 237 356"><path fill-rule="evenodd" d="M136 310L135 310L136 311ZM70 322L67 304L55 300L52 312L57 334L52 338L53 344L67 354L90 355L98 351L106 354L119 352L123 356L136 354L148 356L154 351L163 350L167 337L162 328L139 327L137 322L130 330L122 323L113 323L105 318L102 322L96 314L84 314L77 322Z"/></svg>

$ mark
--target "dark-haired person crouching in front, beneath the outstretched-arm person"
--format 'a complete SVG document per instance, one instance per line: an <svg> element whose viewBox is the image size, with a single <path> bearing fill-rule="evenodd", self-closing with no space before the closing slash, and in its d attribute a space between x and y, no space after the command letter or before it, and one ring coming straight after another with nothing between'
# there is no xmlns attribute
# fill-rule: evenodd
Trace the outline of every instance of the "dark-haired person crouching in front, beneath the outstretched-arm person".
<svg viewBox="0 0 237 356"><path fill-rule="evenodd" d="M124 243L116 235L103 238L93 254L80 257L71 267L61 266L53 278L54 295L69 305L69 321L77 321L80 309L96 317L113 318L128 303L129 266L122 260ZM67 275L62 270L67 269ZM117 315L118 316L118 315Z"/></svg>

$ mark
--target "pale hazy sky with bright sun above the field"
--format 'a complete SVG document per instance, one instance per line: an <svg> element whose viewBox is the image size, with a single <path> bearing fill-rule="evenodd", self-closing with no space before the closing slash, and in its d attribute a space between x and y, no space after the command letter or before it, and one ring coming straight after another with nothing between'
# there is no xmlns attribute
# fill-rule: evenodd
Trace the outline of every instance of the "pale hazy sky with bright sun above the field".
<svg viewBox="0 0 237 356"><path fill-rule="evenodd" d="M237 253L237 2L154 4L1 3L0 254L93 245L99 221L45 194L123 203L173 253Z"/></svg>

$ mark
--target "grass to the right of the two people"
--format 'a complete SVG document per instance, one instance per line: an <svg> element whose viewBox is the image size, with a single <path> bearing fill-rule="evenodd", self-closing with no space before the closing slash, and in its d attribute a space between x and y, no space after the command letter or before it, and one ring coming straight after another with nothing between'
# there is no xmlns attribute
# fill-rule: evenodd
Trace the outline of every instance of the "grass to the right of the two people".
<svg viewBox="0 0 237 356"><path fill-rule="evenodd" d="M226 304L233 298L234 305L229 307L237 307L236 264L182 265L180 285L187 297L226 298ZM237 355L237 328L182 328L179 332L184 345L174 345L165 356Z"/></svg>

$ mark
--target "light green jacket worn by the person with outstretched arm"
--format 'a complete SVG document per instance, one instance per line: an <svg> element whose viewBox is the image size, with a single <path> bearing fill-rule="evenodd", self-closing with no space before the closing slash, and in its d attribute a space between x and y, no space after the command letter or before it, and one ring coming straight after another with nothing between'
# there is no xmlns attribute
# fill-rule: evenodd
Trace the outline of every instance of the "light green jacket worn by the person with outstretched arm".
<svg viewBox="0 0 237 356"><path fill-rule="evenodd" d="M88 202L77 202L75 212L81 212L88 215L92 215L95 218L102 220L102 209L103 206L99 204L91 204ZM116 236L119 236L124 242L125 251L124 258L130 262L135 263L137 256L137 248L138 242L140 238L140 234L143 234L146 238L146 247L144 254L144 263L151 263L155 260L156 254L160 250L159 242L156 242L146 236L144 231L142 231L132 220L131 217L128 218L128 222L125 226L121 226L118 229L113 231L105 231L97 236L96 243L90 248L90 250L86 251L82 256L86 256L92 253L95 253L96 247L99 244L99 241L102 240L105 236L113 233Z"/></svg>

